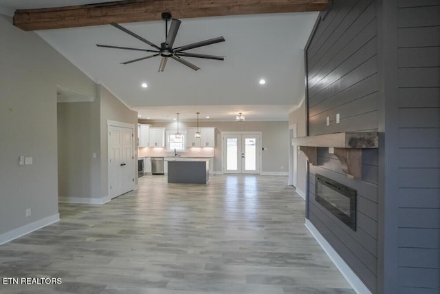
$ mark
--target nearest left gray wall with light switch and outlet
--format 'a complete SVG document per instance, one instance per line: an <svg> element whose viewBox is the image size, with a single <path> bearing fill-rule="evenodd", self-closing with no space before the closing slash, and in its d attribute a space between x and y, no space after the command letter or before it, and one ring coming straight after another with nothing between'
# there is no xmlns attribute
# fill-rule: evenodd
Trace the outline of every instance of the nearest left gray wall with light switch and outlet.
<svg viewBox="0 0 440 294"><path fill-rule="evenodd" d="M0 14L0 235L58 214L56 86L95 94L72 63L11 23ZM33 165L19 166L21 155Z"/></svg>

